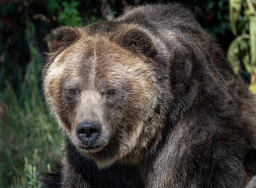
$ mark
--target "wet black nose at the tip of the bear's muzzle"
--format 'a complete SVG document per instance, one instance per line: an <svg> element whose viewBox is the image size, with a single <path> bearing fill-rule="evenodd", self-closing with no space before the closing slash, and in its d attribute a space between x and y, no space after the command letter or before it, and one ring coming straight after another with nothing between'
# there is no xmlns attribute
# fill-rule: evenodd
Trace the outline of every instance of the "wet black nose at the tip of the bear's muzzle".
<svg viewBox="0 0 256 188"><path fill-rule="evenodd" d="M90 144L100 136L101 128L93 122L82 121L76 127L76 135L83 142Z"/></svg>

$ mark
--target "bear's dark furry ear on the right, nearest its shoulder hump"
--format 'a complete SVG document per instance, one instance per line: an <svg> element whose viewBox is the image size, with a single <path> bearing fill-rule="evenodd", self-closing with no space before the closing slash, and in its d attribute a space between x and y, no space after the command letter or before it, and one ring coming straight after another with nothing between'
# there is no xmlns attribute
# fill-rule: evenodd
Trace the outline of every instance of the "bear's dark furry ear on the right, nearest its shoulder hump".
<svg viewBox="0 0 256 188"><path fill-rule="evenodd" d="M147 57L154 57L157 54L152 38L145 31L130 29L122 34L122 45L132 52Z"/></svg>

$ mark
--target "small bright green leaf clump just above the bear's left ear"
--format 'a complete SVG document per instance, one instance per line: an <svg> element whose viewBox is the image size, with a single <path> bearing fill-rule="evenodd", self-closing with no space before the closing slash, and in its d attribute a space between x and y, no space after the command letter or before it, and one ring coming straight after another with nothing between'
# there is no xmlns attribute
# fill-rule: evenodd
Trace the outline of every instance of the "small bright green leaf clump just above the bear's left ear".
<svg viewBox="0 0 256 188"><path fill-rule="evenodd" d="M59 15L60 23L73 27L82 26L82 17L79 16L79 11L76 8L79 2L62 2L62 5L64 9Z"/></svg>

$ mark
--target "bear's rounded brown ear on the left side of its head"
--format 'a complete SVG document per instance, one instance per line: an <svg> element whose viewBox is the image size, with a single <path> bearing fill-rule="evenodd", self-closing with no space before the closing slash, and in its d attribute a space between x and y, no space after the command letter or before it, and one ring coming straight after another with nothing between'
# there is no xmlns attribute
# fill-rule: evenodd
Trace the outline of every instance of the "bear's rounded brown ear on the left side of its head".
<svg viewBox="0 0 256 188"><path fill-rule="evenodd" d="M61 52L79 38L80 34L77 28L59 27L52 31L48 42L49 50L51 53Z"/></svg>

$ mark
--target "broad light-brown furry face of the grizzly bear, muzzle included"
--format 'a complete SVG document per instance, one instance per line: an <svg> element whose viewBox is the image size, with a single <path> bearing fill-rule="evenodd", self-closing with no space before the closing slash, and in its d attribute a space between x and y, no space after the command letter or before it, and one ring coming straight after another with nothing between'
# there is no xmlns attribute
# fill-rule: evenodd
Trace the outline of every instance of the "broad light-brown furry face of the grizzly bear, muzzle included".
<svg viewBox="0 0 256 188"><path fill-rule="evenodd" d="M133 37L134 31L121 36L123 41ZM159 129L156 125L161 126L149 118L155 115L158 121L156 96L161 96L153 65L111 41L113 36L94 38L89 31L68 27L54 32L61 36L58 42L49 42L52 52L45 67L44 89L60 127L99 166L117 159L127 161L129 154L137 162L137 150L148 150ZM67 35L73 37L67 39Z"/></svg>

